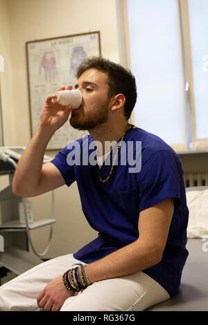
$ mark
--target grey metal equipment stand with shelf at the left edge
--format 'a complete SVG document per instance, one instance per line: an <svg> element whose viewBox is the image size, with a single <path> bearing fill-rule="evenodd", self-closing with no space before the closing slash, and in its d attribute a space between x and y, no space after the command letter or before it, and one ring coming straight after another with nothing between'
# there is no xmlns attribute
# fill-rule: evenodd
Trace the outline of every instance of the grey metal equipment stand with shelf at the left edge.
<svg viewBox="0 0 208 325"><path fill-rule="evenodd" d="M26 223L20 223L18 205L21 197L12 193L12 178L14 167L1 161L1 175L9 176L9 185L0 192L0 235L4 239L4 251L0 252L0 265L8 268L16 275L42 263L43 260L29 252ZM29 223L29 229L34 230L55 223L55 219L44 219Z"/></svg>

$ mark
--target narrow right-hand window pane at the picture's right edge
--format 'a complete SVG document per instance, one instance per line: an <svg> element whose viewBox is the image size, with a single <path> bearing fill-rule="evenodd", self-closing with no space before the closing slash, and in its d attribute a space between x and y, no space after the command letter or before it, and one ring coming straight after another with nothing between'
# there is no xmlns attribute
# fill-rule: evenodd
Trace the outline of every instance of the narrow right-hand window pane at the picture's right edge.
<svg viewBox="0 0 208 325"><path fill-rule="evenodd" d="M199 140L208 138L208 1L189 0L188 8L193 71L192 105L196 120L193 141L198 145Z"/></svg>

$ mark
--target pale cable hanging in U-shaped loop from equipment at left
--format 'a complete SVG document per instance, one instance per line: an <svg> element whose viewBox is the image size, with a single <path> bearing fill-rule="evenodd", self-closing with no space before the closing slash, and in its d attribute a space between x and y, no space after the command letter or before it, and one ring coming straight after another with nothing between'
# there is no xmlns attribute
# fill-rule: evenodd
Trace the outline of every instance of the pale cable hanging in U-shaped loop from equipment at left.
<svg viewBox="0 0 208 325"><path fill-rule="evenodd" d="M0 151L0 159L8 162L10 164L12 164L13 167L15 167L15 169L17 168L17 163L15 162L15 160L13 160L12 158L10 158L10 156L8 154L6 154L3 151ZM37 250L35 250L35 247L33 245L33 241L31 239L31 232L30 232L30 228L29 228L29 223L28 223L28 214L27 214L27 209L26 209L26 198L22 198L23 201L23 206L24 206L24 216L25 216L25 222L26 222L26 234L28 236L28 241L31 245L31 249L33 250L34 254L37 257L43 257L49 250L50 244L51 244L51 238L52 238L52 234L53 234L53 223L51 223L51 228L50 228L50 233L49 233L49 240L48 243L46 245L46 249L44 250L44 252L39 253L37 252ZM51 203L51 219L54 218L54 190L52 190L52 203Z"/></svg>

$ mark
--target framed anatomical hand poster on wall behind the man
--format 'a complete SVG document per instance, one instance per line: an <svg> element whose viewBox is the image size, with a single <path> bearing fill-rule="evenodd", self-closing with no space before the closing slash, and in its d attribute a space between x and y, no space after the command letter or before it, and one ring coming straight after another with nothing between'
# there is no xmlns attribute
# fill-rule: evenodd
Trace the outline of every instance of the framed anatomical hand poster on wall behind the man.
<svg viewBox="0 0 208 325"><path fill-rule="evenodd" d="M31 136L40 120L47 95L64 86L75 86L76 69L87 57L101 55L100 32L28 41L26 43ZM73 129L69 120L55 132L46 149L62 149L87 131Z"/></svg>

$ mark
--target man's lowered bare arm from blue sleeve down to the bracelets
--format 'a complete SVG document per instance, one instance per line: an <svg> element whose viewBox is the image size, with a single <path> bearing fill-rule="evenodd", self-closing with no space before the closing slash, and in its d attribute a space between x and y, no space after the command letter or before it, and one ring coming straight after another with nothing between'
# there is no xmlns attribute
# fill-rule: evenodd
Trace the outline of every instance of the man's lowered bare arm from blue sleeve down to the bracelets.
<svg viewBox="0 0 208 325"><path fill-rule="evenodd" d="M174 210L173 198L149 207L139 214L139 239L89 263L87 277L92 284L103 279L130 275L150 268L162 259Z"/></svg>

